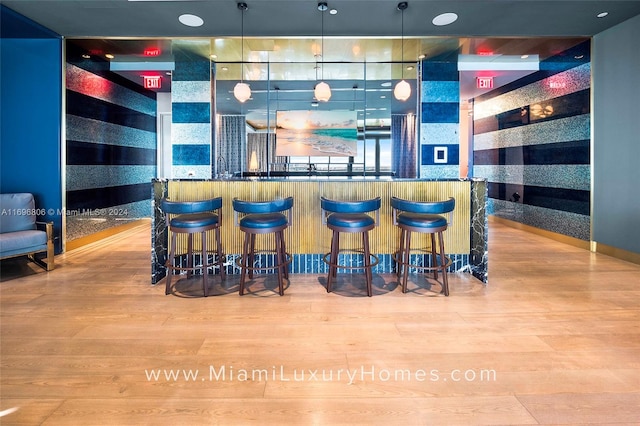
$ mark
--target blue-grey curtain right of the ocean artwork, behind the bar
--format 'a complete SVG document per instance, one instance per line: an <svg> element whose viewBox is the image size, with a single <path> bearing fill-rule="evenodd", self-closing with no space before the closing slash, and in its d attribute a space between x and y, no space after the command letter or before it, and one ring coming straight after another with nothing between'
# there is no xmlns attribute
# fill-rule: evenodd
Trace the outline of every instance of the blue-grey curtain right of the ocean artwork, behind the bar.
<svg viewBox="0 0 640 426"><path fill-rule="evenodd" d="M415 114L391 115L391 167L396 177L417 177Z"/></svg>

